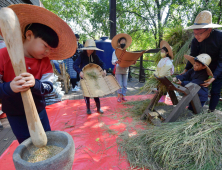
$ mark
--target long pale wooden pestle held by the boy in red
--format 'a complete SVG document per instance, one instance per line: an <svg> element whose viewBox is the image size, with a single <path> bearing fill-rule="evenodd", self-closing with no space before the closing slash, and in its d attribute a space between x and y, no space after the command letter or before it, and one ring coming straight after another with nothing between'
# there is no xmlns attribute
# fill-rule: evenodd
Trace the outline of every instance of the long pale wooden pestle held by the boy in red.
<svg viewBox="0 0 222 170"><path fill-rule="evenodd" d="M15 75L26 72L21 28L18 18L10 8L0 10L0 27L12 62ZM31 90L21 92L29 133L36 147L47 144L47 137L39 119Z"/></svg>

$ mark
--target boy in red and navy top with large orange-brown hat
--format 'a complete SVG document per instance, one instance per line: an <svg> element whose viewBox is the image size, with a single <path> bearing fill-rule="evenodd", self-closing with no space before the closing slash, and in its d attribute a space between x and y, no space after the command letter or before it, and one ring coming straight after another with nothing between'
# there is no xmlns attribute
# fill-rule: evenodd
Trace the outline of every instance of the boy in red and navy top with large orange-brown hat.
<svg viewBox="0 0 222 170"><path fill-rule="evenodd" d="M19 92L31 89L45 131L50 131L44 95L53 90L50 59L65 59L76 49L75 35L57 15L35 5L9 6L17 15L23 34L26 73L15 76L7 48L0 49L0 98L19 143L30 137Z"/></svg>

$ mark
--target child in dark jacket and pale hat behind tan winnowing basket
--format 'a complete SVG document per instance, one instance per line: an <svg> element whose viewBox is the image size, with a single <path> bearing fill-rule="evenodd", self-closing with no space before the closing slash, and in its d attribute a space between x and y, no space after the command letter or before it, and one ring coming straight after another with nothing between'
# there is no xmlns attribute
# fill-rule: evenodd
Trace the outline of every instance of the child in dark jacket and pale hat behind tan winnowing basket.
<svg viewBox="0 0 222 170"><path fill-rule="evenodd" d="M106 75L105 70L105 63L96 55L96 50L103 51L96 47L96 43L94 40L86 40L85 47L81 48L80 50L83 50L83 52L80 54L80 56L76 59L76 61L73 64L73 68L79 73L81 78L84 78L84 73L82 72L83 67L85 67L89 63L94 63L99 65L103 70L103 75ZM86 108L87 114L91 114L90 110L90 98L84 97L86 102ZM100 108L100 100L99 97L94 97L94 100L96 102L97 112L100 114L103 114L103 110Z"/></svg>

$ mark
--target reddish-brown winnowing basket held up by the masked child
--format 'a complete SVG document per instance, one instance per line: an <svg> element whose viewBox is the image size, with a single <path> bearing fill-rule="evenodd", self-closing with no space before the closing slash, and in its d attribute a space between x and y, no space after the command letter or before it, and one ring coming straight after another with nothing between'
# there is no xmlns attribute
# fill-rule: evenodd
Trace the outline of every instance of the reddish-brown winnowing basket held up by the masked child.
<svg viewBox="0 0 222 170"><path fill-rule="evenodd" d="M122 50L120 48L117 48L115 51L120 67L129 67L133 65L145 52L146 51L127 52L126 50Z"/></svg>

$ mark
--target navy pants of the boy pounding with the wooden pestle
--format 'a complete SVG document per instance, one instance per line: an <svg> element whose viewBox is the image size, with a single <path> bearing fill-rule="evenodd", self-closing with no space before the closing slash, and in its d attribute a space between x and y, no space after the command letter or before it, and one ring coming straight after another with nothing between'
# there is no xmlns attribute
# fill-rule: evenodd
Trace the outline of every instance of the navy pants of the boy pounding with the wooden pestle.
<svg viewBox="0 0 222 170"><path fill-rule="evenodd" d="M30 137L26 116L7 116L14 135L19 143ZM44 109L39 113L39 118L45 131L51 131L49 119Z"/></svg>

